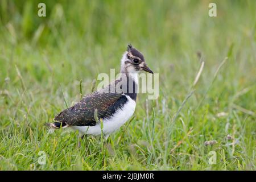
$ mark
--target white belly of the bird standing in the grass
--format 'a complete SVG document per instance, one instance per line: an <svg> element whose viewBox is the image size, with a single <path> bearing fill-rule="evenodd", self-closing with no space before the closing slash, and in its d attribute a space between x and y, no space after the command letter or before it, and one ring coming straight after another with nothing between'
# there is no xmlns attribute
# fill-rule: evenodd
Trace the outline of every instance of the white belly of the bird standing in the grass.
<svg viewBox="0 0 256 182"><path fill-rule="evenodd" d="M111 118L103 120L102 131L106 136L118 130L133 115L136 102L129 96L126 96L126 98L127 102L122 109L115 111ZM72 126L72 129L79 130L80 133L86 135L101 135L100 123L96 123L95 126Z"/></svg>

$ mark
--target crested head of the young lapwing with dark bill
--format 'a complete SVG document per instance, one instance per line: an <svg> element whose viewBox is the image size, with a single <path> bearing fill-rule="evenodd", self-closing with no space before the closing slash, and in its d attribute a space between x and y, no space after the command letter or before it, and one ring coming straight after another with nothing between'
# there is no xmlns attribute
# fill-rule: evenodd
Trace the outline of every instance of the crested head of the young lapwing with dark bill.
<svg viewBox="0 0 256 182"><path fill-rule="evenodd" d="M147 67L142 53L129 44L121 60L121 72L138 73L139 71L153 73L151 69Z"/></svg>

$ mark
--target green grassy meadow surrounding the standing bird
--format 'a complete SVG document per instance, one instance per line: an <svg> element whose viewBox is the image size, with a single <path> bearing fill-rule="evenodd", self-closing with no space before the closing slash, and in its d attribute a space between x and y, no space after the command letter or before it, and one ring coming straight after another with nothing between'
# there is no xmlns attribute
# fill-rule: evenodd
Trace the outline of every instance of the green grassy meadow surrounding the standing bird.
<svg viewBox="0 0 256 182"><path fill-rule="evenodd" d="M210 1L44 1L44 18L39 2L0 1L1 170L255 170L255 1L216 1L213 18ZM139 94L105 147L49 134L127 43L159 73L158 99Z"/></svg>

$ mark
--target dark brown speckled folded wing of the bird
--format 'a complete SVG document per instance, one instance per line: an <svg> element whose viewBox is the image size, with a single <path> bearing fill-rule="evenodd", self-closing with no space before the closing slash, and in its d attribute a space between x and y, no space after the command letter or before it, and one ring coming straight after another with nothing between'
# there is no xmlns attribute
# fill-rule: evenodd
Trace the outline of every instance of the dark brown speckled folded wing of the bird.
<svg viewBox="0 0 256 182"><path fill-rule="evenodd" d="M93 92L85 96L76 105L63 110L54 118L55 121L67 123L69 126L94 126L94 111L97 109L98 118L109 118L118 108L127 102L121 93Z"/></svg>

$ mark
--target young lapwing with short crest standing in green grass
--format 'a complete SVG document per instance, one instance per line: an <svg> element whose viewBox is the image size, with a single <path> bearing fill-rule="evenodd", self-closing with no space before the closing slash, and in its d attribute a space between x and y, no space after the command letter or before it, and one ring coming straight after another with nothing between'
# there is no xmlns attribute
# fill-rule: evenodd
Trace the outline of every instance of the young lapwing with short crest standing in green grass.
<svg viewBox="0 0 256 182"><path fill-rule="evenodd" d="M153 73L142 53L128 44L122 55L120 76L105 88L84 96L72 107L61 111L47 125L51 129L71 127L79 130L81 138L103 133L107 139L134 114L140 71ZM102 121L103 126L98 121Z"/></svg>

